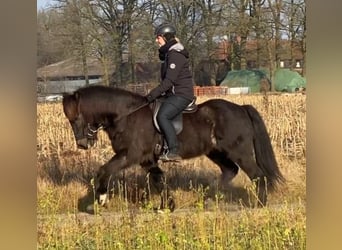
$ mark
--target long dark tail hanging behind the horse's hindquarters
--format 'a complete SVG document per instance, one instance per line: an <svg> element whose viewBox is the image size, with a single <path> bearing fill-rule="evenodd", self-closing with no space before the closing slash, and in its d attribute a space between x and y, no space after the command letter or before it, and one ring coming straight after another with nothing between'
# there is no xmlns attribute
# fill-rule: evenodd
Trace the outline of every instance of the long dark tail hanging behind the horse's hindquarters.
<svg viewBox="0 0 342 250"><path fill-rule="evenodd" d="M272 191L276 184L284 182L285 178L279 170L271 139L259 112L251 105L243 105L243 107L248 112L254 128L254 151L256 162L267 179L268 189Z"/></svg>

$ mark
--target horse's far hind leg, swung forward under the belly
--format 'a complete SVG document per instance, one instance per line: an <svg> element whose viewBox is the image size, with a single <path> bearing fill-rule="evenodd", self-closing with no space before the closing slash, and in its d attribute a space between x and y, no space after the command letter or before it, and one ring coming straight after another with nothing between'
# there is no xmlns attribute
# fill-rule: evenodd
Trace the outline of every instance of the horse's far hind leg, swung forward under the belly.
<svg viewBox="0 0 342 250"><path fill-rule="evenodd" d="M225 187L237 175L239 167L225 153L217 150L211 151L207 157L220 167L221 185Z"/></svg>

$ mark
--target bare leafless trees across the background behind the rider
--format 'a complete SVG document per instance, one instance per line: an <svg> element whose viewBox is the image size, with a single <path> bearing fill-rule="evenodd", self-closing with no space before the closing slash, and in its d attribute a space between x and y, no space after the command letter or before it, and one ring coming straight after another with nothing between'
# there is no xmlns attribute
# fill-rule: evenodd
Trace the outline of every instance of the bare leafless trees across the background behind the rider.
<svg viewBox="0 0 342 250"><path fill-rule="evenodd" d="M189 50L193 70L203 60L210 75L222 62L229 69L247 69L253 53L253 67L267 67L272 74L284 50L290 68L300 50L305 75L305 20L305 0L53 0L37 13L37 67L75 57L88 83L87 58L93 57L108 84L135 82L137 62L158 61L154 27L168 21ZM218 59L222 44L228 51ZM123 64L127 70L116 70L110 79L109 66Z"/></svg>

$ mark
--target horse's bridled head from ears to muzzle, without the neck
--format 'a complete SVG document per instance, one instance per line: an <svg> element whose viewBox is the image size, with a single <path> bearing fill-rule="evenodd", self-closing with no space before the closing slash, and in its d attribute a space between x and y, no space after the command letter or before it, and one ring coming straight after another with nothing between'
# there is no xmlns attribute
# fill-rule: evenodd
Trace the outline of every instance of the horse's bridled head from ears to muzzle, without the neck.
<svg viewBox="0 0 342 250"><path fill-rule="evenodd" d="M98 124L92 124L87 120L87 116L81 112L79 102L80 97L78 92L65 94L63 96L63 110L71 124L77 147L80 149L88 149L94 146L97 140L97 131L100 129L100 126Z"/></svg>

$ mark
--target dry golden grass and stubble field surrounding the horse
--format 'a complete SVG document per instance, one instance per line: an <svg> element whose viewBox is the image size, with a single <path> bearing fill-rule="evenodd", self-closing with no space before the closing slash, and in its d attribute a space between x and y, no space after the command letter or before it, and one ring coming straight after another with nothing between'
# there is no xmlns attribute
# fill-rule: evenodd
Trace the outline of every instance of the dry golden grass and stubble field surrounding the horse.
<svg viewBox="0 0 342 250"><path fill-rule="evenodd" d="M198 103L209 97L198 97ZM142 207L146 178L138 166L118 174L107 208L93 202L92 178L113 152L103 132L96 146L76 148L61 103L37 104L38 249L305 249L306 96L244 95L223 98L252 104L262 115L286 183L265 208L249 208L253 183L243 172L219 188L219 168L205 157L163 164L176 210Z"/></svg>

